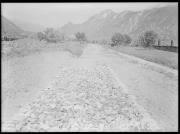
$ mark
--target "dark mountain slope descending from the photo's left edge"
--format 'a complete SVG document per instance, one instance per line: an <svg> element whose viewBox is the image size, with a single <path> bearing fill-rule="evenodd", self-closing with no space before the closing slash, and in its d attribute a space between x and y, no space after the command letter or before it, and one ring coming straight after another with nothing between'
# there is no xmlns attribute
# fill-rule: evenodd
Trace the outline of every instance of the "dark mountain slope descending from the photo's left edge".
<svg viewBox="0 0 180 134"><path fill-rule="evenodd" d="M2 35L20 36L24 31L13 22L1 16Z"/></svg>

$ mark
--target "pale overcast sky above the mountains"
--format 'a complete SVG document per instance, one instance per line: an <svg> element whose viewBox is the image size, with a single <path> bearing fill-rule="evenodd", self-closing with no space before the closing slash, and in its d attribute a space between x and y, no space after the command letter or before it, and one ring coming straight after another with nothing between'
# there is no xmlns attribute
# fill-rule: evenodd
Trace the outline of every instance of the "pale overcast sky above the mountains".
<svg viewBox="0 0 180 134"><path fill-rule="evenodd" d="M40 24L45 27L61 27L82 23L105 9L114 12L144 10L172 3L3 3L2 15L10 20Z"/></svg>

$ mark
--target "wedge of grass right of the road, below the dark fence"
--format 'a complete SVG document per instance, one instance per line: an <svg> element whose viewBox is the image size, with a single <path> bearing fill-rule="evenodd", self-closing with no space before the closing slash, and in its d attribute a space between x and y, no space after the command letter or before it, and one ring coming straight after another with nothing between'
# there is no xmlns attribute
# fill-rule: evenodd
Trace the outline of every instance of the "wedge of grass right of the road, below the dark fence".
<svg viewBox="0 0 180 134"><path fill-rule="evenodd" d="M178 53L175 52L130 46L108 47L118 52L133 55L178 70Z"/></svg>

